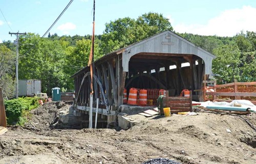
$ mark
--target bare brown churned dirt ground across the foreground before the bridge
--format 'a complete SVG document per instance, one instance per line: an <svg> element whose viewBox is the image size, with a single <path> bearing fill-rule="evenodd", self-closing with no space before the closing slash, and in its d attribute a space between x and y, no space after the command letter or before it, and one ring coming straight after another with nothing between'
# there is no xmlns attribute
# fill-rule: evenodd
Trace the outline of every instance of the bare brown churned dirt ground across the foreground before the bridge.
<svg viewBox="0 0 256 164"><path fill-rule="evenodd" d="M0 163L256 163L256 132L238 116L133 115L140 123L129 130L52 129L69 105L46 104L26 126L8 127L0 135ZM243 117L256 126L256 114Z"/></svg>

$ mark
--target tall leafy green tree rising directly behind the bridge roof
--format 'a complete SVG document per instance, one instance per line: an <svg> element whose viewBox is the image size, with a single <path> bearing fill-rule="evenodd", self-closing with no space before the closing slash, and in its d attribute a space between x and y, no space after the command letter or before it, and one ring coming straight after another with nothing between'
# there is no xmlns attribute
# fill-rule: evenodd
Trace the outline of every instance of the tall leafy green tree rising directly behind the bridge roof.
<svg viewBox="0 0 256 164"><path fill-rule="evenodd" d="M173 31L173 27L162 14L147 13L136 20L125 17L105 24L101 36L101 50L106 54L151 37L165 30Z"/></svg>

